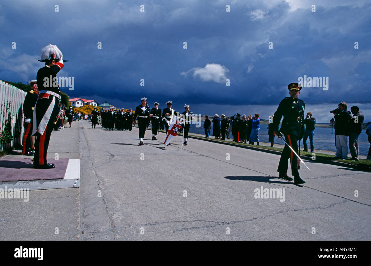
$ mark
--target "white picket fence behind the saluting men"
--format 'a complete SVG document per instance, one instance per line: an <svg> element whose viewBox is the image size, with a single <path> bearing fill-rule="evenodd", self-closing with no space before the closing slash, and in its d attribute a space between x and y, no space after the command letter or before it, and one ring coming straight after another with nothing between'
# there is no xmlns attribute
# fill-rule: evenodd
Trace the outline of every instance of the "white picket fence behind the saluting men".
<svg viewBox="0 0 371 266"><path fill-rule="evenodd" d="M7 119L12 120L13 140L1 143L0 151L22 144L23 138L23 102L26 92L0 80L0 136Z"/></svg>

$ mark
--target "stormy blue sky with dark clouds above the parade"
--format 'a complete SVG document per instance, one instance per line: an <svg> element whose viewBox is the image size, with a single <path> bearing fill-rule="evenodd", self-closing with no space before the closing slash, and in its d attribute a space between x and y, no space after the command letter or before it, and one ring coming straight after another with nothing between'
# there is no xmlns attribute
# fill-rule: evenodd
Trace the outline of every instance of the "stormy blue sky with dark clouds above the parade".
<svg viewBox="0 0 371 266"><path fill-rule="evenodd" d="M3 1L0 79L35 79L52 43L70 60L59 76L74 77L73 91L62 88L71 98L134 109L145 96L160 108L172 100L182 111L267 118L306 75L329 80L300 95L319 122L342 101L371 121L370 14L361 0Z"/></svg>

